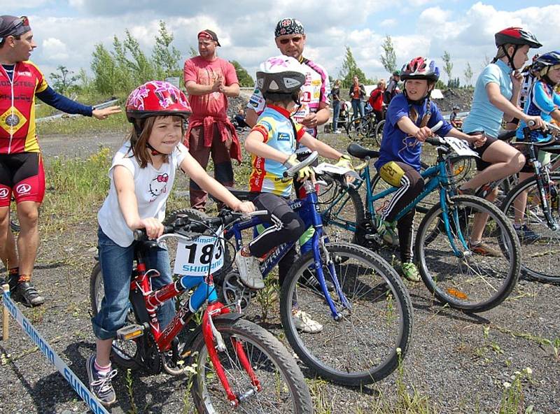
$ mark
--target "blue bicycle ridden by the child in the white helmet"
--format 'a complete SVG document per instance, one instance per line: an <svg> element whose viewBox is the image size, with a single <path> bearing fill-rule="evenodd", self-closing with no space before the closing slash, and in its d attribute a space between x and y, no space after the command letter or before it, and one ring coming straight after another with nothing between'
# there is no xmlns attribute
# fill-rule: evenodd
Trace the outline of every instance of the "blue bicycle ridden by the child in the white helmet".
<svg viewBox="0 0 560 414"><path fill-rule="evenodd" d="M311 164L316 157L314 152L290 169L290 175ZM321 164L315 167L316 176L321 178L326 170L336 171L336 168ZM330 176L346 182L344 173L330 173ZM306 196L291 201L290 207L314 230L312 248L295 261L281 286L283 329L298 357L319 376L343 385L373 383L393 372L407 352L412 331L409 295L396 272L379 255L350 243L329 243L317 211L315 186L306 181L304 188ZM232 192L241 200L258 195ZM192 210L181 212L200 217L200 213ZM181 212L172 216L180 216ZM210 224L212 220L219 217L203 218L202 222ZM226 229L224 237L234 239L237 250L244 245L244 231L260 224L259 217L238 222ZM294 245L284 243L269 252L260 265L262 275L269 275ZM237 276L237 271L232 270L222 280L216 278L216 285L221 284L226 303L246 306L251 291L237 282ZM332 292L326 280L332 283ZM298 331L293 320L296 307L322 324L323 329L314 334Z"/></svg>

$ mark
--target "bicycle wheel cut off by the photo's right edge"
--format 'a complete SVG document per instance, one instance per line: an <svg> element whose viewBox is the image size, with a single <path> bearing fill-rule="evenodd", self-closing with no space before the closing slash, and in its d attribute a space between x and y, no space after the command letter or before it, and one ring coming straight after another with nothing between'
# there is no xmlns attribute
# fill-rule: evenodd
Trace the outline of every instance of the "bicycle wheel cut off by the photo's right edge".
<svg viewBox="0 0 560 414"><path fill-rule="evenodd" d="M554 185L556 194L551 194L550 182L545 183L545 197L548 201L549 213L557 225L560 225L559 192L560 173L551 173L550 181ZM510 219L514 220L516 208L514 201L524 191L528 191L528 202L525 208L525 219L528 227L533 229L540 238L533 243L523 243L523 254L521 258L521 274L544 283L560 283L560 271L558 269L558 257L560 255L560 229L550 229L543 215L540 204L540 192L537 187L536 177L523 180L515 186L505 197L502 211ZM556 208L552 208L554 204Z"/></svg>

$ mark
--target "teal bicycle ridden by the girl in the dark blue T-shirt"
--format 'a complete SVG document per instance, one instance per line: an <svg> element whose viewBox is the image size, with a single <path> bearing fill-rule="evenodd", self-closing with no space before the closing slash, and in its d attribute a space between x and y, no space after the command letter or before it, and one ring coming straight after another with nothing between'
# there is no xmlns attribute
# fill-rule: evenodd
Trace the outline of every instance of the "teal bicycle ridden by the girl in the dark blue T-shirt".
<svg viewBox="0 0 560 414"><path fill-rule="evenodd" d="M437 124L432 130L439 127L441 125ZM400 211L395 220L430 195L437 194L435 205L422 211L424 215L414 245L416 265L423 283L439 301L477 313L498 306L512 292L519 278L521 250L512 224L502 211L479 197L457 194L454 171L460 142L439 137L426 140L437 147L437 162L421 172L425 180L423 192ZM328 204L321 208L323 223L330 226L331 238L339 233L337 229L342 229L339 234L346 232L353 243L372 250L386 248L374 230L374 217L391 200L397 187L373 194L369 161L379 157L379 152L357 144L349 145L348 152L365 161L360 171L361 180L330 193ZM363 187L365 204L360 195ZM488 217L486 225L477 231L475 217L479 222L479 217L484 216ZM489 246L494 255L480 255L471 250L471 236Z"/></svg>

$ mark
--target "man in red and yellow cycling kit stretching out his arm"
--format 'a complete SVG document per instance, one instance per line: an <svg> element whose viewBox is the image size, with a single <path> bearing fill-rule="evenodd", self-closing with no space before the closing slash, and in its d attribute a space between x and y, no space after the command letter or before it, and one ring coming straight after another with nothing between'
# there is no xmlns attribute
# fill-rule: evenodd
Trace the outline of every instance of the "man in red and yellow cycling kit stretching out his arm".
<svg viewBox="0 0 560 414"><path fill-rule="evenodd" d="M0 259L13 298L27 306L44 302L31 285L38 248L38 207L45 194L43 157L35 131L35 97L66 113L104 120L118 106L93 109L57 94L29 61L37 45L27 17L0 16ZM10 231L10 201L18 205L18 248Z"/></svg>

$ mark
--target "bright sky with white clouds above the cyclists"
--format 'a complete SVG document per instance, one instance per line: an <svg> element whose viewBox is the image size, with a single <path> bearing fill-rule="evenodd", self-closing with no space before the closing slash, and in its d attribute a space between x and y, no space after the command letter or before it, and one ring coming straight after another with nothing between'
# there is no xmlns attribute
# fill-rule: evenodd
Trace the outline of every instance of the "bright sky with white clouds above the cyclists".
<svg viewBox="0 0 560 414"><path fill-rule="evenodd" d="M325 66L333 78L346 45L366 76L386 78L379 59L386 35L393 38L399 67L418 55L441 65L444 50L449 51L453 76L461 83L467 62L476 76L485 56L493 57L493 34L505 27L533 31L544 45L539 52L560 49L560 5L550 0L0 0L0 10L29 16L38 44L31 60L47 77L58 65L91 72L94 45L103 43L111 50L113 36L122 39L125 29L149 52L158 20L174 34L183 59L196 46L198 31L216 31L222 45L218 55L237 60L253 78L259 62L278 53L274 27L282 17L304 24L304 55Z"/></svg>

